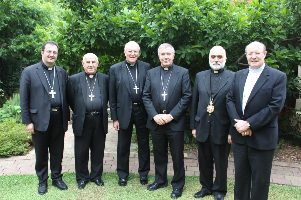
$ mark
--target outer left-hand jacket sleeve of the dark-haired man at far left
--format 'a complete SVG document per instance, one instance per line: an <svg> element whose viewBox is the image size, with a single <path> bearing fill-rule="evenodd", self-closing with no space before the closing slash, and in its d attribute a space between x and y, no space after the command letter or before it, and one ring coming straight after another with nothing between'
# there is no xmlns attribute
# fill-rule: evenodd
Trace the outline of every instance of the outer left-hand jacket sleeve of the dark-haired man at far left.
<svg viewBox="0 0 301 200"><path fill-rule="evenodd" d="M29 113L30 77L27 68L24 68L20 79L20 107L22 124L32 123Z"/></svg>

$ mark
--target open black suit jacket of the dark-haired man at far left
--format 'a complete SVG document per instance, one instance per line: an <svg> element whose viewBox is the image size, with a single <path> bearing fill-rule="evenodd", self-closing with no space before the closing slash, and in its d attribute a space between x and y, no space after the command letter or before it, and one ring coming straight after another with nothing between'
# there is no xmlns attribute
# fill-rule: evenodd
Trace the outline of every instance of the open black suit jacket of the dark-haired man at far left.
<svg viewBox="0 0 301 200"><path fill-rule="evenodd" d="M67 72L56 66L58 84L63 110L63 127L67 131L70 120L69 105L67 104ZM50 120L50 96L48 83L43 71L42 61L24 68L20 79L20 106L22 123L33 123L37 131L46 131ZM58 91L56 91L58 92Z"/></svg>

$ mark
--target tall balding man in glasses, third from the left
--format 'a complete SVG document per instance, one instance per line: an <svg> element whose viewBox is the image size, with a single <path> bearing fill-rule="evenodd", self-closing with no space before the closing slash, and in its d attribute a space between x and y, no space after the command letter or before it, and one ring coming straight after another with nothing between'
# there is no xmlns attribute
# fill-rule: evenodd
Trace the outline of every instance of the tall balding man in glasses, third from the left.
<svg viewBox="0 0 301 200"><path fill-rule="evenodd" d="M129 153L133 125L136 127L140 183L147 184L150 171L149 129L142 102L145 77L151 65L138 59L139 45L129 41L124 46L126 59L110 67L110 111L113 126L118 131L117 174L119 186L126 186L129 176Z"/></svg>

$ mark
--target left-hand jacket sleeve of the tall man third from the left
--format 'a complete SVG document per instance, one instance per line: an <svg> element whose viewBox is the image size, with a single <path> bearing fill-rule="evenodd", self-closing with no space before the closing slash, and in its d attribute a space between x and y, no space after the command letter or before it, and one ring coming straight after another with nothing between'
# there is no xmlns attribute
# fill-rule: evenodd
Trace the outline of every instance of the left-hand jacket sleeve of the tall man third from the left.
<svg viewBox="0 0 301 200"><path fill-rule="evenodd" d="M110 67L109 70L109 98L110 98L110 112L111 120L117 120L117 90L116 90L116 78L114 69Z"/></svg>

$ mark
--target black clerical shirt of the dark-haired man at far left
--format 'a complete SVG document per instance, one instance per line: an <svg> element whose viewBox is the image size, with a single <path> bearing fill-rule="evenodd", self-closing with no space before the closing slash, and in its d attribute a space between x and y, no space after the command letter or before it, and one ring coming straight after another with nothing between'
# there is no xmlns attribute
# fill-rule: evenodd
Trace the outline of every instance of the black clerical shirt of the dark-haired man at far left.
<svg viewBox="0 0 301 200"><path fill-rule="evenodd" d="M43 66L43 70L45 71L45 74L48 78L48 81L52 87L52 83L53 83L53 75L54 75L54 67L52 67L51 70L48 70L48 66L45 65L45 63L43 61L42 62L42 66ZM45 77L46 79L46 77ZM51 92L51 88L47 82L46 79L46 83L47 83L47 89L48 89L48 94L49 94L49 100L50 100L50 106L51 108L57 108L57 107L61 107L61 94L60 94L60 87L58 85L59 79L57 76L57 71L55 71L55 78L54 78L54 86L53 86L53 91L55 92L54 94L54 98L51 98L51 94L49 94L49 92Z"/></svg>

